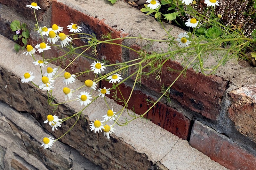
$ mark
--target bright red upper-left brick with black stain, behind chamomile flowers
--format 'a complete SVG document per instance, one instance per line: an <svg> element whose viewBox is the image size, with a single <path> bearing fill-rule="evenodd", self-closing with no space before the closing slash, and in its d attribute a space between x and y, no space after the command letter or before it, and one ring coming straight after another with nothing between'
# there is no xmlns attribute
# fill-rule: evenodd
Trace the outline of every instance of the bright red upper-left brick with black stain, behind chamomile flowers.
<svg viewBox="0 0 256 170"><path fill-rule="evenodd" d="M79 16L79 17L77 17ZM101 40L102 34L107 34L111 32L111 37L120 38L126 37L128 33L124 33L122 31L117 31L111 26L108 26L104 23L104 20L100 20L98 18L91 17L79 11L76 11L67 5L62 3L58 3L56 1L52 1L52 24L57 24L62 27L67 28L68 25L72 23L76 23L81 25L81 23L85 23L92 32L95 32L98 40ZM68 34L68 30L64 30L64 33ZM123 40L112 41L113 43L121 44ZM77 40L74 41L76 46L87 45L83 41ZM96 56L99 59L102 59L104 56L106 60L110 61L110 63L122 62L122 48L121 46L111 45L111 44L99 44L97 46L98 55ZM90 51L88 51L90 52Z"/></svg>

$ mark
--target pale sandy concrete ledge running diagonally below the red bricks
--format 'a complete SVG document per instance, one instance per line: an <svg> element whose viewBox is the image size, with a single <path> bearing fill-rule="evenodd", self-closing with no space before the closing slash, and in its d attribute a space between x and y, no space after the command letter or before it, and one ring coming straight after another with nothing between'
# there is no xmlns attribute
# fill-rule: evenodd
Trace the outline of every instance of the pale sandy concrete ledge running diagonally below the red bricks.
<svg viewBox="0 0 256 170"><path fill-rule="evenodd" d="M2 46L0 47L0 68L4 67L8 69L13 74L22 76L25 72L32 71L35 75L34 82L40 81L41 73L39 72L39 67L32 64L32 57L25 56L22 53L15 53L13 50L14 43L9 39L0 36L0 41ZM36 59L42 59L41 56L36 55ZM49 64L51 67L56 67L52 64ZM44 68L46 69L46 68ZM61 71L61 69L60 69ZM76 89L83 85L84 83L76 80L75 83L72 84L72 88ZM64 93L62 92L62 88L64 87L62 83L62 78L57 78L54 84L55 89L53 90L53 94L55 95L56 100L59 102L63 102ZM8 85L7 85L8 88ZM83 88L82 91L89 91L88 88ZM81 90L80 90L81 91ZM80 92L79 91L79 92ZM73 94L73 99L76 98L76 95L79 93L78 91ZM45 93L46 94L46 93ZM95 93L98 94L98 93ZM107 102L110 107L115 108L116 110L120 110L121 106L116 104L113 100L107 98ZM70 107L73 107L76 111L79 111L82 107L80 107L78 102L69 102L67 103ZM97 102L93 102L83 113L88 115L91 121L95 119L102 119L102 115L105 115L107 108L105 106L105 102L103 99L98 98ZM124 116L127 116L124 114ZM17 118L17 122L18 118ZM28 132L34 130L35 124L20 124L20 126L27 128ZM32 128L33 127L33 128ZM183 141L178 139L173 134L167 132L166 130L160 128L156 124L148 121L145 122L143 120L136 120L135 122L130 123L128 126L118 127L116 126L116 136L123 138L124 142L130 144L134 147L135 151L139 153L145 153L148 156L148 159L153 163L157 161L161 161L161 163L169 168L172 168L172 164L170 162L176 162L177 167L182 167L184 165L184 155L189 153L189 157L187 157L186 161L189 164L189 169L198 169L198 167L206 167L201 166L208 165L206 169L225 169L223 166L220 166L218 163L209 159L209 157L203 155L199 151L191 148L187 141ZM36 131L36 130L35 130ZM32 133L32 132L31 132ZM93 132L92 132L93 133ZM45 134L37 134L36 140L40 141L45 136ZM178 141L178 143L177 143ZM180 141L180 142L179 142ZM177 144L176 144L177 143ZM177 146L176 146L177 145ZM64 147L61 144L54 145L51 150L57 150ZM186 148L183 152L182 148ZM181 150L182 152L176 152L176 150ZM170 155L170 156L169 156ZM173 156L175 155L175 156ZM194 160L197 160L196 162ZM180 165L180 166L178 166ZM184 165L185 166L185 165Z"/></svg>

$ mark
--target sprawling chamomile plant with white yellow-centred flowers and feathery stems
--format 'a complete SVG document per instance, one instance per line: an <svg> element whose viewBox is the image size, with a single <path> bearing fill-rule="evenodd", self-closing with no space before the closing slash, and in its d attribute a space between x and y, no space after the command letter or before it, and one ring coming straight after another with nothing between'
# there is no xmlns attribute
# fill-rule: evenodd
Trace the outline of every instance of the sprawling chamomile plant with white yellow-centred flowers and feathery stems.
<svg viewBox="0 0 256 170"><path fill-rule="evenodd" d="M214 7L219 5L218 1L213 0L205 0L206 6L205 11L214 10ZM181 5L185 5L189 8L189 6L193 2L190 0L183 0L180 4L175 4L172 1L162 0L154 1L148 0L145 4L147 8L146 11L150 11L151 13L156 12L159 17L161 12L159 12L159 8L161 8L162 4L170 4L170 6L174 7L173 9L179 9L175 14L164 15L168 19L175 19L176 16L184 13L184 8ZM40 6L36 3L31 3L27 5L28 10L40 10ZM144 9L145 11L145 9ZM159 15L158 15L159 14ZM68 26L60 26L57 23L52 26L39 26L36 19L36 32L38 36L43 38L42 42L36 44L36 46L27 45L27 52L24 55L30 55L34 59L35 69L40 69L40 82L33 82L36 75L33 74L33 70L27 70L23 73L23 77L21 79L22 83L32 83L39 89L47 92L48 103L50 106L53 106L53 113L47 116L47 119L44 123L49 123L52 131L56 131L61 129L65 123L69 119L76 119L76 122L83 115L83 111L87 109L93 102L101 102L102 116L98 117L95 120L91 120L91 124L88 127L92 133L97 133L106 136L107 139L111 138L115 133L116 126L125 126L128 123L132 122L138 118L144 118L144 116L152 109L156 103L165 98L167 101L170 101L170 90L172 85L182 76L186 76L186 71L188 68L192 67L195 71L200 71L204 75L213 74L220 65L225 64L228 60L236 58L238 55L242 55L242 51L244 48L249 47L252 43L255 42L254 39L246 38L240 30L230 29L229 26L224 26L221 24L220 17L217 15L204 16L200 15L196 11L189 11L189 15L193 15L193 17L189 18L184 25L188 26L187 31L182 31L179 34L173 36L171 35L171 30L166 30L163 26L163 29L166 32L166 38L161 40L154 40L149 38L143 38L141 36L138 37L121 37L121 38L111 38L111 33L106 35L102 35L102 39L98 40L95 35L90 35L86 33L82 33L81 26L79 23L71 23ZM36 13L35 13L36 15ZM36 16L35 16L36 17ZM161 23L162 21L159 20ZM214 27L212 30L208 30L207 36L197 36L196 31L200 30L200 27ZM217 30L217 31L216 31ZM216 36L216 32L218 35ZM70 33L70 34L68 34ZM78 37L77 35L86 35L86 39L88 40L87 44L83 44L82 46L75 47L74 45L79 41L79 39L84 39L84 37ZM137 39L138 41L150 41L150 42L164 42L168 44L168 49L166 52L152 52L147 50L134 50L130 47L127 47L122 44L113 43L115 40L124 40L124 39ZM138 58L135 58L130 61L120 62L120 63L108 63L107 61L99 61L96 58L85 55L86 52L91 50L91 53L97 55L97 46L99 44L111 44L115 46L121 46L122 48L127 48L139 55ZM225 44L229 44L231 48L224 49L221 48ZM63 55L58 57L45 56L45 51L52 50L52 48L59 48ZM77 53L76 50L82 49L82 53ZM216 51L224 52L225 54L222 57L216 56ZM34 58L34 54L42 54L42 60L36 60ZM89 52L88 52L89 53ZM231 53L231 55L230 55ZM70 56L74 56L70 59ZM216 63L211 67L205 67L204 62L207 60L207 57L215 57ZM79 58L79 57L87 57L90 60L93 60L90 63L90 66L87 70L76 73L71 72L71 65ZM178 58L182 60L181 64L183 68L181 70L172 69L171 66L163 67L164 64L168 60ZM66 61L68 63L65 63ZM51 62L59 62L60 66L64 66L65 68L60 71L59 68L52 68L48 64ZM161 72L163 69L167 69L168 71L176 71L178 72L178 76L174 79L171 85L164 86L160 83ZM128 70L130 73L127 74ZM132 71L131 71L132 70ZM92 73L94 75L94 79L87 79L84 81L84 85L79 88L74 88L74 84L76 83L79 76L85 75L87 73ZM155 76L156 80L159 80L159 85L163 86L161 91L161 96L155 100L148 100L149 106L148 110L146 110L141 115L136 115L132 111L129 111L128 103L131 100L133 95L133 91L136 85L140 85L141 79L148 78L149 76ZM37 75L38 76L38 75ZM60 81L56 81L60 79ZM133 80L133 85L130 94L125 98L120 90L120 85L123 84L128 79ZM104 81L104 85L99 86L100 82ZM62 88L56 89L55 83L61 82ZM89 88L84 88L84 87ZM85 90L87 89L87 90ZM54 90L59 90L63 92L63 102L55 103L54 96L52 92ZM78 95L72 94L76 92ZM126 95L127 96L127 95ZM106 97L111 97L118 103L122 105L122 109L118 110L117 108L109 107ZM99 98L99 99L98 99ZM97 100L98 99L98 100ZM56 115L54 112L58 105L68 103L68 102L76 102L77 105L81 108L80 111L75 113L72 116L61 118ZM104 111L105 110L105 111ZM125 118L122 115L126 111L129 115L129 118ZM133 110L136 112L136 110ZM76 124L75 122L75 124ZM70 127L68 132L74 127ZM64 133L67 134L68 132ZM62 135L62 136L64 136ZM62 137L61 136L61 137ZM60 137L60 138L61 138ZM58 139L53 139L53 137L44 137L43 143L41 146L46 148L50 148L53 146L54 142Z"/></svg>

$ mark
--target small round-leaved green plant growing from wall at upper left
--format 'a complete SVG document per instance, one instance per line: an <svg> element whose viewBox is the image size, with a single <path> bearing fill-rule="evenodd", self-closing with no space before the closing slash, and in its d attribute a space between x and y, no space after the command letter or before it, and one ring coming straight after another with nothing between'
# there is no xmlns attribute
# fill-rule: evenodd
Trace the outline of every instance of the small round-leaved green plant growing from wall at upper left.
<svg viewBox="0 0 256 170"><path fill-rule="evenodd" d="M14 41L19 41L19 43L23 43L24 46L21 48L20 44L15 44L14 45L14 49L16 52L19 52L20 51L20 48L21 50L23 50L25 48L25 46L27 45L28 43L28 38L29 38L29 31L28 29L26 28L27 27L27 24L26 23L22 23L20 24L20 21L18 20L14 20L12 21L11 25L10 25L10 28L12 29L12 31L20 31L19 34L15 34L13 35L13 40Z"/></svg>

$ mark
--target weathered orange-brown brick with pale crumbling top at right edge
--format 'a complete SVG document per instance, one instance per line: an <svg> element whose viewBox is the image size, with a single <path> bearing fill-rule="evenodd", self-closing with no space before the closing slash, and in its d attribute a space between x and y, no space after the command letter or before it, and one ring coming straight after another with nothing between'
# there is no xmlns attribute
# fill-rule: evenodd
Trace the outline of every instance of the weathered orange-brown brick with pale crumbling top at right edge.
<svg viewBox="0 0 256 170"><path fill-rule="evenodd" d="M236 130L256 143L256 86L244 86L230 93L228 117Z"/></svg>

